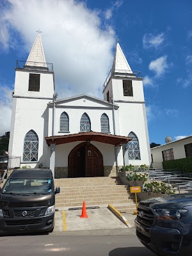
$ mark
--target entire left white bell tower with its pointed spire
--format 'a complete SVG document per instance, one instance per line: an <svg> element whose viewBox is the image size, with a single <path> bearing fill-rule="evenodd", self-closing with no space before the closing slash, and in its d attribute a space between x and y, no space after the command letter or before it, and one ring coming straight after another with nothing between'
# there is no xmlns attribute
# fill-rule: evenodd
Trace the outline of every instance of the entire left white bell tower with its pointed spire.
<svg viewBox="0 0 192 256"><path fill-rule="evenodd" d="M47 104L54 95L52 63L45 61L40 31L27 61L17 61L13 92L9 155L20 156L21 166L47 166L43 154L48 134ZM35 138L36 143L33 143Z"/></svg>

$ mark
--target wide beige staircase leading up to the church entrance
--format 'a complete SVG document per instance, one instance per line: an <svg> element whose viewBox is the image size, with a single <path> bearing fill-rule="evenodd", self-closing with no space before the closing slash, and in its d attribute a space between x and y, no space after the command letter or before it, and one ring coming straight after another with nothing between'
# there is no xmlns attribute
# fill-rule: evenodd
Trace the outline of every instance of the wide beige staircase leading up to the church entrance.
<svg viewBox="0 0 192 256"><path fill-rule="evenodd" d="M61 188L56 195L56 208L82 207L85 201L86 206L112 204L120 212L136 209L134 196L118 177L55 179L54 183Z"/></svg>

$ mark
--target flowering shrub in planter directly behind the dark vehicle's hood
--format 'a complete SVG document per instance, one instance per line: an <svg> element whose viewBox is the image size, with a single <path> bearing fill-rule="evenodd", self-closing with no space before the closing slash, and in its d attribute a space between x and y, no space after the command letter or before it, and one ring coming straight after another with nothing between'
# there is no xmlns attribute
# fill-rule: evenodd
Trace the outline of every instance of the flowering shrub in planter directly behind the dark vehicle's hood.
<svg viewBox="0 0 192 256"><path fill-rule="evenodd" d="M147 193L153 192L166 195L175 194L175 190L173 189L173 186L171 184L166 184L164 182L157 181L152 181L145 184L143 190L146 191Z"/></svg>

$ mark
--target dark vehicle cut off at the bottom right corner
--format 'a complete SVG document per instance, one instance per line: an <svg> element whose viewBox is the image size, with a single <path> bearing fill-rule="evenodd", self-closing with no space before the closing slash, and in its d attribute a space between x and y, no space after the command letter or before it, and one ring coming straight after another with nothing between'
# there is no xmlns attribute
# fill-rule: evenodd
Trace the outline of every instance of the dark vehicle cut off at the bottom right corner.
<svg viewBox="0 0 192 256"><path fill-rule="evenodd" d="M192 255L192 193L143 200L136 235L157 255Z"/></svg>

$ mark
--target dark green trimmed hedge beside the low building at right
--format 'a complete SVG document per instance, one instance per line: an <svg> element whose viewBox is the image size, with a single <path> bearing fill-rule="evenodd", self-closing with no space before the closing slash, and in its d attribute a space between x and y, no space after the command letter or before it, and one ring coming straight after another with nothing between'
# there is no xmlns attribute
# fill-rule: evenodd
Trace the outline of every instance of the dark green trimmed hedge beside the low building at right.
<svg viewBox="0 0 192 256"><path fill-rule="evenodd" d="M163 169L179 169L183 170L184 172L192 172L192 157L164 161Z"/></svg>

